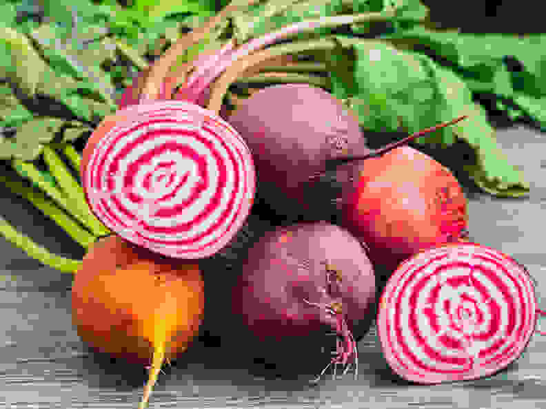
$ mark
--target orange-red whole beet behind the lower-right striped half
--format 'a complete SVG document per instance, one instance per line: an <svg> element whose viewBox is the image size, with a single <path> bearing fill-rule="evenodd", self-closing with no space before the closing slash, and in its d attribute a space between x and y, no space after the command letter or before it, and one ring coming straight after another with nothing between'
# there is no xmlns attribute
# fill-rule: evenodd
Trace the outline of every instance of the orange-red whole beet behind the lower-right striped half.
<svg viewBox="0 0 546 409"><path fill-rule="evenodd" d="M339 166L332 174L341 185L335 193L338 224L367 244L382 275L418 251L466 240L467 200L461 185L421 151L397 147L378 158Z"/></svg>

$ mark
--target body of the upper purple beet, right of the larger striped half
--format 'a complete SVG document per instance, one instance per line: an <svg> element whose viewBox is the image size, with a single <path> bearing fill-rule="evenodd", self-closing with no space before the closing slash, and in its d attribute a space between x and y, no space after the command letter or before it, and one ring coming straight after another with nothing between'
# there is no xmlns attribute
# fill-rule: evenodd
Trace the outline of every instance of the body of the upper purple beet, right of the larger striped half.
<svg viewBox="0 0 546 409"><path fill-rule="evenodd" d="M356 117L332 94L307 84L264 88L228 122L252 152L257 194L283 216L316 213L302 185L323 171L326 159L370 151Z"/></svg>

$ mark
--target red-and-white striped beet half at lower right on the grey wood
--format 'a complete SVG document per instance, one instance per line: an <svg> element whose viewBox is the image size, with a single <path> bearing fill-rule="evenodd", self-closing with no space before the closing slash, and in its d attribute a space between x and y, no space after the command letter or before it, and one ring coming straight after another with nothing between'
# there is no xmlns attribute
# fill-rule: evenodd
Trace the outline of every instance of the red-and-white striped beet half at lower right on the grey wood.
<svg viewBox="0 0 546 409"><path fill-rule="evenodd" d="M403 262L378 308L378 335L395 373L419 384L492 375L518 359L537 319L529 273L474 243Z"/></svg>

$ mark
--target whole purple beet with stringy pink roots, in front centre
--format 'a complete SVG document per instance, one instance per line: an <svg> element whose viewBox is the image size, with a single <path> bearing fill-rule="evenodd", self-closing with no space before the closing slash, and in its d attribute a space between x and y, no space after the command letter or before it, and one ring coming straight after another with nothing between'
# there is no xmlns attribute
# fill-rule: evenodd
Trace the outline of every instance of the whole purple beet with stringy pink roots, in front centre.
<svg viewBox="0 0 546 409"><path fill-rule="evenodd" d="M266 233L249 251L232 311L260 345L293 347L298 337L336 331L343 339L338 358L350 360L352 332L370 325L375 298L374 270L361 244L333 224L303 222Z"/></svg>

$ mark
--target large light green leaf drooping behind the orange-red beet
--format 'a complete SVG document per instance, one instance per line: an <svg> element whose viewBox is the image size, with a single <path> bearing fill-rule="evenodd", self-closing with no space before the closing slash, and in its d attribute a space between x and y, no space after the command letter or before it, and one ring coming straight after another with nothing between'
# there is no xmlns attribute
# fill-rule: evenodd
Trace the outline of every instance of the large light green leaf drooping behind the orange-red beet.
<svg viewBox="0 0 546 409"><path fill-rule="evenodd" d="M358 114L364 129L394 132L400 123L408 133L469 118L416 139L417 143L452 145L465 140L476 151L477 162L463 166L484 191L496 196L521 196L529 186L523 174L509 165L496 142L485 110L472 101L464 81L427 56L396 50L385 41L353 43L358 93L347 105Z"/></svg>

